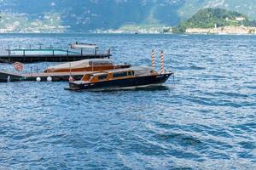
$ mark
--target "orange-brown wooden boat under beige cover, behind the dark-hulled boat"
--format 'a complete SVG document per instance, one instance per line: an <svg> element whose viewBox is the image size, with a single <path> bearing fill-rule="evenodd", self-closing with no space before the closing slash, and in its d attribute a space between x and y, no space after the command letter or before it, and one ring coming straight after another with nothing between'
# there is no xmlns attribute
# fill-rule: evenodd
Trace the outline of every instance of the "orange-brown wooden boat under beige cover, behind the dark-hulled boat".
<svg viewBox="0 0 256 170"><path fill-rule="evenodd" d="M111 59L83 59L48 67L44 72L106 71L129 68L131 65L114 65Z"/></svg>

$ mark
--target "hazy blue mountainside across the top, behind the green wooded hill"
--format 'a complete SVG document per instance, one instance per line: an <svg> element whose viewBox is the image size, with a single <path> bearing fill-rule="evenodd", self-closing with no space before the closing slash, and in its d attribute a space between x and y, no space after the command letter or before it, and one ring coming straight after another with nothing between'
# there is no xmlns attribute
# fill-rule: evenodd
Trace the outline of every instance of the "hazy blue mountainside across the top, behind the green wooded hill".
<svg viewBox="0 0 256 170"><path fill-rule="evenodd" d="M0 0L0 32L176 26L199 9L210 7L256 18L256 0Z"/></svg>

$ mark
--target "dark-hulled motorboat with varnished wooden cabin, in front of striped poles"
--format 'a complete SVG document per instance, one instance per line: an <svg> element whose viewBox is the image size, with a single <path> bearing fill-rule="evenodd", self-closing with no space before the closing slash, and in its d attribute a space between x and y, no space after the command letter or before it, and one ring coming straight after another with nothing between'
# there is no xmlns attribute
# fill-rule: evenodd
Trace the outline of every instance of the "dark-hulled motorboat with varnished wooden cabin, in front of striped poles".
<svg viewBox="0 0 256 170"><path fill-rule="evenodd" d="M132 66L125 69L96 71L85 74L80 81L69 82L68 90L132 88L162 84L173 72L158 73L152 67Z"/></svg>

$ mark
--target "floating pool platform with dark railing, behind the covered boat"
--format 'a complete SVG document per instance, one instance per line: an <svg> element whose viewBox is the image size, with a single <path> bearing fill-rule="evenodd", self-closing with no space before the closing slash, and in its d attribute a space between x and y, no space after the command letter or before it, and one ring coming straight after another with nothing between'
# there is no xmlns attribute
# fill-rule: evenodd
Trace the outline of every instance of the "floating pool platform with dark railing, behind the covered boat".
<svg viewBox="0 0 256 170"><path fill-rule="evenodd" d="M78 45L78 44L77 44ZM110 58L110 49L102 52L96 45L86 45L78 48L71 44L70 48L7 48L0 52L0 63L35 63L35 62L69 62L81 59ZM86 48L87 47L87 48ZM88 50L89 48L89 50Z"/></svg>

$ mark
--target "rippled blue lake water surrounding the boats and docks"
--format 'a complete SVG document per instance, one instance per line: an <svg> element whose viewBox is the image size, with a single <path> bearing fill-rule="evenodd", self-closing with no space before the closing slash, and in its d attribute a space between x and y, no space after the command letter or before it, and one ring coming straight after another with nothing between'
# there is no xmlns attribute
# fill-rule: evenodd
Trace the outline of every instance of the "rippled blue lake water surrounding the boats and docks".
<svg viewBox="0 0 256 170"><path fill-rule="evenodd" d="M13 45L75 41L132 65L164 49L175 85L73 93L67 82L1 83L0 169L256 168L256 37L0 35Z"/></svg>

